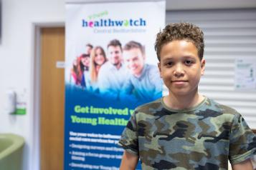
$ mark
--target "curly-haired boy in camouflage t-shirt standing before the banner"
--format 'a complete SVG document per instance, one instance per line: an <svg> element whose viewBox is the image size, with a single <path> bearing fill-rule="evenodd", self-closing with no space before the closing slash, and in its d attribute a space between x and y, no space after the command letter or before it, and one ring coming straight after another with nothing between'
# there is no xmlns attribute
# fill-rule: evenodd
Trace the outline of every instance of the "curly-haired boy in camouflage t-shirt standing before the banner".
<svg viewBox="0 0 256 170"><path fill-rule="evenodd" d="M256 137L234 109L198 93L204 35L193 24L169 24L157 34L158 68L169 95L139 106L119 141L120 169L252 170Z"/></svg>

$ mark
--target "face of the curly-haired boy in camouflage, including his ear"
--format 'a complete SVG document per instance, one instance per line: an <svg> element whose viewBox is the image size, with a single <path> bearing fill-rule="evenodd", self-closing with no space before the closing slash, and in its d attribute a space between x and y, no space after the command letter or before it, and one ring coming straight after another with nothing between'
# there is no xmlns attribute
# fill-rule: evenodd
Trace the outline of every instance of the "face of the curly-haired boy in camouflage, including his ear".
<svg viewBox="0 0 256 170"><path fill-rule="evenodd" d="M162 47L160 56L158 68L170 95L196 94L205 66L205 60L199 59L196 46L190 41L171 41Z"/></svg>

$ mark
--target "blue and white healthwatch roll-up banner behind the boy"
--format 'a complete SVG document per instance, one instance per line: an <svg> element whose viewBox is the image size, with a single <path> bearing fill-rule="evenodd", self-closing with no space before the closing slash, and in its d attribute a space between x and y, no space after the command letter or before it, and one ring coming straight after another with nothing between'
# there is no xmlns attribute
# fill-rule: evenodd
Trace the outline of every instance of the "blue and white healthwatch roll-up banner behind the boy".
<svg viewBox="0 0 256 170"><path fill-rule="evenodd" d="M162 96L154 43L165 3L67 1L65 170L119 169L133 110Z"/></svg>

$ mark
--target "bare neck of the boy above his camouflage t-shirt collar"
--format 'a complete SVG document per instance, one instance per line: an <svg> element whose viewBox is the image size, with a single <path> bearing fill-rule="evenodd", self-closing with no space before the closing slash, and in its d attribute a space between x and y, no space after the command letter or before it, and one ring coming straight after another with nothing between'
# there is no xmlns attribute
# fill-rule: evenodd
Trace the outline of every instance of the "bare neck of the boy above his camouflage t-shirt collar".
<svg viewBox="0 0 256 170"><path fill-rule="evenodd" d="M171 109L190 109L204 100L204 96L191 94L190 96L174 96L169 94L163 97L163 102Z"/></svg>

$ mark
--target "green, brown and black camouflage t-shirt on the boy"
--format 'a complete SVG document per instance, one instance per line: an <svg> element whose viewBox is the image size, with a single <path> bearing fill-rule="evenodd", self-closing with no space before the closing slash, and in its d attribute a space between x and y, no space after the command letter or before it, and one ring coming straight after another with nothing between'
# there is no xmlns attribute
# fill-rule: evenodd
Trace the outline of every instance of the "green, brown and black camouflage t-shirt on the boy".
<svg viewBox="0 0 256 170"><path fill-rule="evenodd" d="M256 136L232 108L204 99L170 109L158 99L139 106L119 141L143 169L227 169L256 154Z"/></svg>

